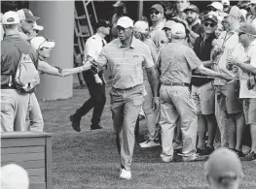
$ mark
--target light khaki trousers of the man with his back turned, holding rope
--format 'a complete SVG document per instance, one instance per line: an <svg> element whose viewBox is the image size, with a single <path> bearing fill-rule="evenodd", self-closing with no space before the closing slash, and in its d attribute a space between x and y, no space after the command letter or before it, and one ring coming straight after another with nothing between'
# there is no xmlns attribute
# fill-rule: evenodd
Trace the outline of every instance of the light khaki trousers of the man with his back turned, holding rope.
<svg viewBox="0 0 256 189"><path fill-rule="evenodd" d="M162 145L161 154L165 162L173 158L173 134L180 118L183 148L185 156L196 153L198 117L197 108L186 86L165 86L160 89Z"/></svg>

